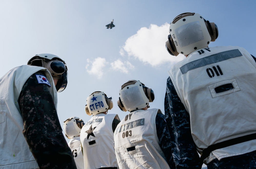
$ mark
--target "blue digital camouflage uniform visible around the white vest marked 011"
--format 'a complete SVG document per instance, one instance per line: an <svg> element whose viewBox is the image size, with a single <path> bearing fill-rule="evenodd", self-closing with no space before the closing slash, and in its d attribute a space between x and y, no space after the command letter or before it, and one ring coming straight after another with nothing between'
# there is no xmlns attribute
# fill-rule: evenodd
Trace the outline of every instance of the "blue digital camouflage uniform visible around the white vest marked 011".
<svg viewBox="0 0 256 169"><path fill-rule="evenodd" d="M252 56L253 57L253 56ZM256 62L256 58L253 57ZM170 132L172 155L177 168L201 168L199 155L190 128L190 116L168 77L165 94L165 118ZM256 168L256 151L214 159L207 168Z"/></svg>

